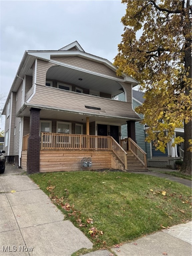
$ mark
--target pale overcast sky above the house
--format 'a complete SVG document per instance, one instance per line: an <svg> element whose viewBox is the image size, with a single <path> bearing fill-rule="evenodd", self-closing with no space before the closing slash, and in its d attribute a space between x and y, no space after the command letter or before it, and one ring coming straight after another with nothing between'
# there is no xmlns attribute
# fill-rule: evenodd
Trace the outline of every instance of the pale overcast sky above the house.
<svg viewBox="0 0 192 256"><path fill-rule="evenodd" d="M120 0L0 0L0 93L8 94L25 50L58 50L77 40L113 62L125 9Z"/></svg>

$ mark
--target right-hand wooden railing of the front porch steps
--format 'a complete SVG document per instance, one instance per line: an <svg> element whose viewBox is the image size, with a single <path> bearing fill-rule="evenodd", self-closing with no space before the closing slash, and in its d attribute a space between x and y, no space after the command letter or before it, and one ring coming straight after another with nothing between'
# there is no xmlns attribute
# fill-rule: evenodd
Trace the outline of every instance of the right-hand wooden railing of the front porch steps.
<svg viewBox="0 0 192 256"><path fill-rule="evenodd" d="M131 151L134 156L136 156L137 159L139 159L139 161L145 166L145 168L147 168L147 154L145 151L140 148L131 138L128 138L128 147L129 151Z"/></svg>

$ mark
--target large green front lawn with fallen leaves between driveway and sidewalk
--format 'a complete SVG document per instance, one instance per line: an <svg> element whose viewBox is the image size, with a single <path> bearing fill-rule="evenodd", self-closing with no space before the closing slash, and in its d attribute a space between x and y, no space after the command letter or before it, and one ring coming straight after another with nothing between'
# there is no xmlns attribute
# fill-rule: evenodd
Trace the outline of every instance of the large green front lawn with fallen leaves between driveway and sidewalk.
<svg viewBox="0 0 192 256"><path fill-rule="evenodd" d="M107 170L39 173L30 178L95 249L191 220L191 189L161 178ZM93 223L87 223L88 219ZM91 234L93 227L97 232Z"/></svg>

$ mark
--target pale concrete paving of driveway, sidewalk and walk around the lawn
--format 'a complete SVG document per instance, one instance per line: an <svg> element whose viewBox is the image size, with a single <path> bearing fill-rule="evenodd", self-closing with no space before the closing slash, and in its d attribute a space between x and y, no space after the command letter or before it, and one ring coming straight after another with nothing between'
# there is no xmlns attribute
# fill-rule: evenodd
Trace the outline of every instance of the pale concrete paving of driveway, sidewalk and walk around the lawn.
<svg viewBox="0 0 192 256"><path fill-rule="evenodd" d="M0 256L70 256L81 248L92 248L89 239L65 220L48 196L23 173L7 165L5 173L0 174ZM189 222L111 248L112 252L99 250L85 255L191 256L191 234Z"/></svg>

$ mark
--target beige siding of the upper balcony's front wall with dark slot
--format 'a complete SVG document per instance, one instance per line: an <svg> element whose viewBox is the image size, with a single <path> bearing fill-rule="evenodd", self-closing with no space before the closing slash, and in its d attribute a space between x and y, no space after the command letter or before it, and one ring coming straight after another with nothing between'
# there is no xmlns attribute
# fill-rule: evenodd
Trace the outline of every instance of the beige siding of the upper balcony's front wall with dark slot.
<svg viewBox="0 0 192 256"><path fill-rule="evenodd" d="M84 113L99 114L103 116L139 118L138 115L133 111L132 104L128 104L127 102L114 101L111 99L79 94L39 85L37 85L36 93L30 100L29 104L35 104L40 108L41 106L46 106L68 111L82 111ZM85 108L85 105L98 107L101 108L101 110L87 109Z"/></svg>

